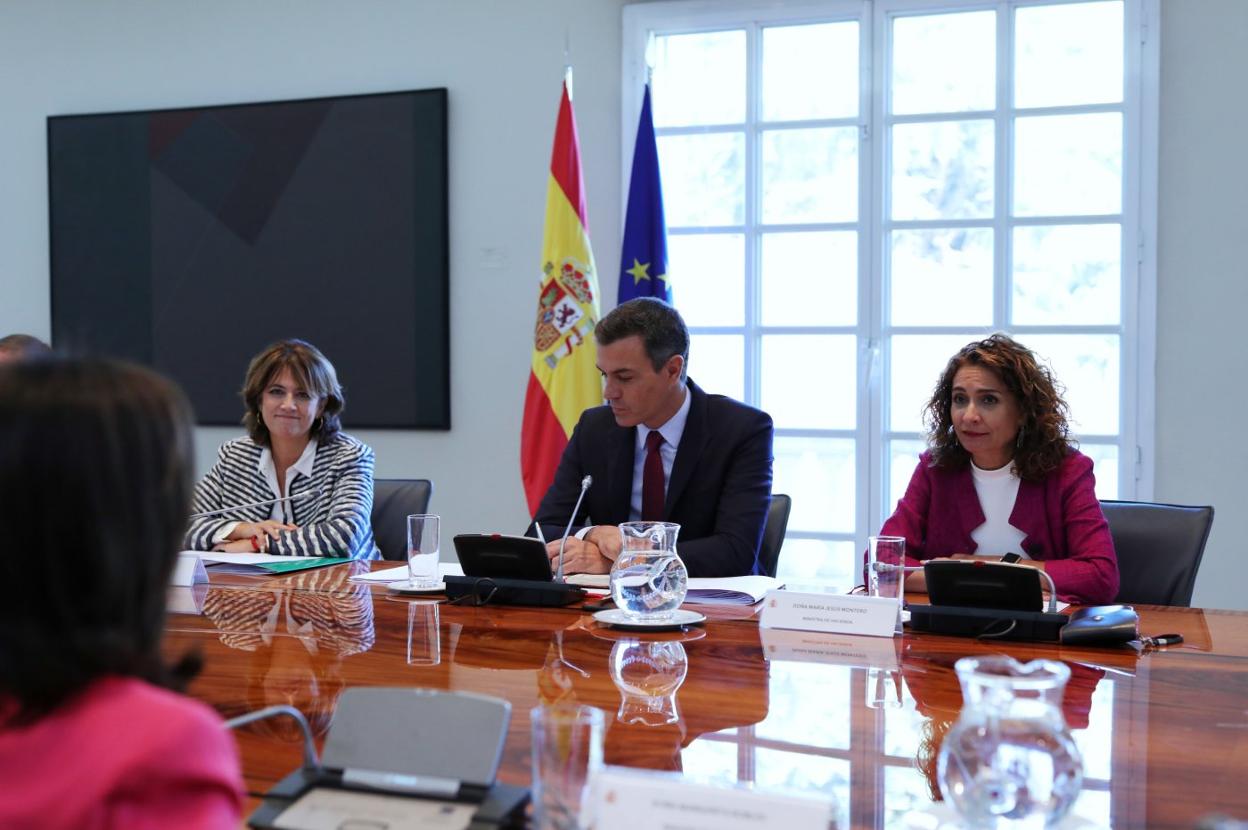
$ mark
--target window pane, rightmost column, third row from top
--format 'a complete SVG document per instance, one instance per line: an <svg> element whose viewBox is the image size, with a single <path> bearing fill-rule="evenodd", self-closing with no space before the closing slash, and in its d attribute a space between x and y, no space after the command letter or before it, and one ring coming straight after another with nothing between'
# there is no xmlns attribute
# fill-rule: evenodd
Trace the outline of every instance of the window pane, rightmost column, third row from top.
<svg viewBox="0 0 1248 830"><path fill-rule="evenodd" d="M1013 322L1117 325L1121 263L1118 225L1016 227Z"/></svg>

